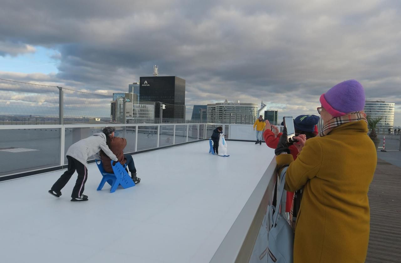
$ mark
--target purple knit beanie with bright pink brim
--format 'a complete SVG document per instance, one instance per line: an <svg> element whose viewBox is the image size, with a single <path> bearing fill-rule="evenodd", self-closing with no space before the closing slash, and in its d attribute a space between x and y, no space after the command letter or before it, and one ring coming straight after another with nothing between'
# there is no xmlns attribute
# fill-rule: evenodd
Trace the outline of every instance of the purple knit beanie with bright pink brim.
<svg viewBox="0 0 401 263"><path fill-rule="evenodd" d="M334 117L363 110L365 90L358 81L346 80L330 88L320 96L320 103Z"/></svg>

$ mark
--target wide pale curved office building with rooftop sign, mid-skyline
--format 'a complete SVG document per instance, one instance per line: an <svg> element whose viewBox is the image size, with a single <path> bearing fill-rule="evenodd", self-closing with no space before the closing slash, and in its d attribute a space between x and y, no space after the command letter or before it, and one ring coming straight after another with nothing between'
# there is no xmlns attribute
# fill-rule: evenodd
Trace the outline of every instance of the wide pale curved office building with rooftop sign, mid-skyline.
<svg viewBox="0 0 401 263"><path fill-rule="evenodd" d="M257 103L218 102L207 104L207 122L224 124L253 124Z"/></svg>

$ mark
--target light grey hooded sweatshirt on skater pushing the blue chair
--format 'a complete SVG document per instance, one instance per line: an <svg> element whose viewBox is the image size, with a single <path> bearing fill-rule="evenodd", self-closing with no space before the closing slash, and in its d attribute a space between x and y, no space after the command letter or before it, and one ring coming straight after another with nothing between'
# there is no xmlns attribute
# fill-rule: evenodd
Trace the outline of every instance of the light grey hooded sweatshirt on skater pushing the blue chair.
<svg viewBox="0 0 401 263"><path fill-rule="evenodd" d="M99 151L103 152L110 157L113 161L118 161L117 157L110 151L106 144L106 135L104 133L94 133L92 136L77 141L68 148L66 155L69 155L77 159L80 163L88 165L87 160L92 155L95 155L96 159L100 160Z"/></svg>

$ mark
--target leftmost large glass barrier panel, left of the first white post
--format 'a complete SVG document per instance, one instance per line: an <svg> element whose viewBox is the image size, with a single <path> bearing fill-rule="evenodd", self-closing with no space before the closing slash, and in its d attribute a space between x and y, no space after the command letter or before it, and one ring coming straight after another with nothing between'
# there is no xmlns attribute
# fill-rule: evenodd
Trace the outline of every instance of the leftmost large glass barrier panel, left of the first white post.
<svg viewBox="0 0 401 263"><path fill-rule="evenodd" d="M0 130L0 176L60 165L60 128Z"/></svg>

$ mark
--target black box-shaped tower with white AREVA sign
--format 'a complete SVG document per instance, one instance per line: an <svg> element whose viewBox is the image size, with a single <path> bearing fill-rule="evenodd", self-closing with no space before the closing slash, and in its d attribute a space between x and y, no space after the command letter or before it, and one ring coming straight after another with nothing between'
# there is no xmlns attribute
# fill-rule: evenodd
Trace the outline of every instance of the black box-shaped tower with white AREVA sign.
<svg viewBox="0 0 401 263"><path fill-rule="evenodd" d="M160 120L160 103L166 104L163 122L185 122L185 80L176 76L140 77L141 101L154 101L155 118Z"/></svg>

